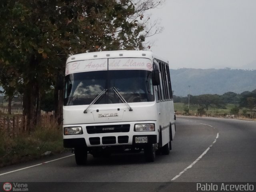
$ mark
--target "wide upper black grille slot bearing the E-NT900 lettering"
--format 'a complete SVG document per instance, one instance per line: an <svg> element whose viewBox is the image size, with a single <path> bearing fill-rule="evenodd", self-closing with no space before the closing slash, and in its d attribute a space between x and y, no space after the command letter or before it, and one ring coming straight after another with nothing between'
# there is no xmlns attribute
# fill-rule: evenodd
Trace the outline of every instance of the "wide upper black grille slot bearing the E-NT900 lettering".
<svg viewBox="0 0 256 192"><path fill-rule="evenodd" d="M88 134L129 132L130 124L86 126Z"/></svg>

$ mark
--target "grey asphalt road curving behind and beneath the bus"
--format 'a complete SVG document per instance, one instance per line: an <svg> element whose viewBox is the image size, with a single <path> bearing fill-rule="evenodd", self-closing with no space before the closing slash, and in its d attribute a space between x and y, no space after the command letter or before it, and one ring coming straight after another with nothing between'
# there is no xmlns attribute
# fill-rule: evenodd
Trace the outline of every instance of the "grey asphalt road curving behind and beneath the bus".
<svg viewBox="0 0 256 192"><path fill-rule="evenodd" d="M89 155L88 165L76 166L74 156L62 158L70 155L67 153L1 168L0 182L78 182L48 183L55 191L60 186L66 191L83 191L85 186L80 182L106 182L87 183L94 191L166 191L174 186L170 181L256 182L256 122L178 117L172 148L170 155L157 156L153 163L145 162L139 153L110 158Z"/></svg>

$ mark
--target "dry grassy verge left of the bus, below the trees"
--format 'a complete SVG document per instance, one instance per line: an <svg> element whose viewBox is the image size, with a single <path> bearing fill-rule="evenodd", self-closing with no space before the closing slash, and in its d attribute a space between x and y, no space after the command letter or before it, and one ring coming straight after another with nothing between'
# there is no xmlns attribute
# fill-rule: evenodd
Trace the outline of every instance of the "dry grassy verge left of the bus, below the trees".
<svg viewBox="0 0 256 192"><path fill-rule="evenodd" d="M58 126L37 127L30 134L8 136L0 130L0 167L39 159L64 152L62 128Z"/></svg>

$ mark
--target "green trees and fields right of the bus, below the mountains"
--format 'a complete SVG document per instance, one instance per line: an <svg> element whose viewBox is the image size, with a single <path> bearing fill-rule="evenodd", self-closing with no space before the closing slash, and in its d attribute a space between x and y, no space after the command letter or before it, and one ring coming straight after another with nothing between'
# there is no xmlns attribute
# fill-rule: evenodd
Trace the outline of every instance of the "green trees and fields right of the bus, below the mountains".
<svg viewBox="0 0 256 192"><path fill-rule="evenodd" d="M174 95L175 110L188 113L188 97ZM252 92L245 91L241 94L226 92L223 95L202 94L190 95L190 113L215 113L215 114L246 114L247 110L256 108L256 89Z"/></svg>

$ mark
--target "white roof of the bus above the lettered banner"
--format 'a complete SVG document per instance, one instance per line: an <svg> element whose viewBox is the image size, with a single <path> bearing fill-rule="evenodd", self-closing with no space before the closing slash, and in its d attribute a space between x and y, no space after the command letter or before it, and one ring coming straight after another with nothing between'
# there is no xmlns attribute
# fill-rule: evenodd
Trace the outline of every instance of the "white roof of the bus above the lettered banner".
<svg viewBox="0 0 256 192"><path fill-rule="evenodd" d="M89 52L82 54L75 54L68 58L66 63L80 61L80 60L90 60L90 59L102 59L102 58L148 58L153 60L156 58L163 62L168 63L168 60L156 56L150 51L139 51L139 50L118 50L118 51L100 51L100 52Z"/></svg>

